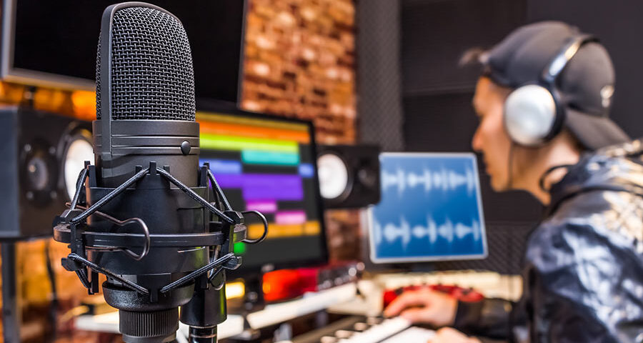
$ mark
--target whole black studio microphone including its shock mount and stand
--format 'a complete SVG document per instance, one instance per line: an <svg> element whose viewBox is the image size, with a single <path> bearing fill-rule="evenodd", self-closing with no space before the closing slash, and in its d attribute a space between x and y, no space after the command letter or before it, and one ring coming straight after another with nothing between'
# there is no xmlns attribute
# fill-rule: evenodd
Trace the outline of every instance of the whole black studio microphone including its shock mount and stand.
<svg viewBox="0 0 643 343"><path fill-rule="evenodd" d="M181 21L151 4L107 7L96 58L95 165L54 222L64 267L119 309L125 342L214 342L226 319L224 269L241 263L243 214L199 167L194 73ZM258 214L254 212L255 214ZM265 218L264 236L267 233ZM262 237L262 238L263 238Z"/></svg>

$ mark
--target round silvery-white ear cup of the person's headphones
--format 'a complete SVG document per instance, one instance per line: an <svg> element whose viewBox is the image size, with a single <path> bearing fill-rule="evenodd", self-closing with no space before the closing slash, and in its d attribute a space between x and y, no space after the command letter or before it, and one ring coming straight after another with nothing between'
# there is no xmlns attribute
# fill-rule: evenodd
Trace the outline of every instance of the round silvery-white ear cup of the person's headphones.
<svg viewBox="0 0 643 343"><path fill-rule="evenodd" d="M512 91L504 101L504 127L523 146L543 144L557 122L557 105L549 89L528 84Z"/></svg>

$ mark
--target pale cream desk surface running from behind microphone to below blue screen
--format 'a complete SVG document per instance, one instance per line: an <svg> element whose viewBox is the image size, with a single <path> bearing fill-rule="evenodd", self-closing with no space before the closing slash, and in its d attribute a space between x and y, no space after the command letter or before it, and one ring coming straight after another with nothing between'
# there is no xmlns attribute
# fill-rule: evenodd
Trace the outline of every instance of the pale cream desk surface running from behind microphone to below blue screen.
<svg viewBox="0 0 643 343"><path fill-rule="evenodd" d="M269 304L261 311L246 315L251 329L261 329L269 325L287 322L296 317L311 314L323 309L342 314L372 316L382 312L382 292L413 284L457 284L473 287L485 297L518 299L522 291L522 280L518 276L500 275L494 272L457 271L432 273L379 274L373 279L359 282L362 296L357 297L358 284L344 284L321 292L304 294L299 299L280 304ZM98 316L80 316L76 319L76 329L95 332L119 332L118 312ZM217 327L219 338L242 334L244 317L228 314L228 319ZM180 324L179 332L187 336L187 326ZM179 341L180 342L180 341Z"/></svg>

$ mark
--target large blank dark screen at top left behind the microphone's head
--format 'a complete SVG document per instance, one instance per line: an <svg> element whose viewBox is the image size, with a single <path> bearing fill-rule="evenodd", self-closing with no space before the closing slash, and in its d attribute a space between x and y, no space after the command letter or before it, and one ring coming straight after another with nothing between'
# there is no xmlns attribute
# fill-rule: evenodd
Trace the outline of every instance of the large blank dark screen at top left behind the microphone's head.
<svg viewBox="0 0 643 343"><path fill-rule="evenodd" d="M3 77L26 84L94 90L104 9L117 0L4 0ZM181 20L196 96L237 101L244 0L146 0Z"/></svg>

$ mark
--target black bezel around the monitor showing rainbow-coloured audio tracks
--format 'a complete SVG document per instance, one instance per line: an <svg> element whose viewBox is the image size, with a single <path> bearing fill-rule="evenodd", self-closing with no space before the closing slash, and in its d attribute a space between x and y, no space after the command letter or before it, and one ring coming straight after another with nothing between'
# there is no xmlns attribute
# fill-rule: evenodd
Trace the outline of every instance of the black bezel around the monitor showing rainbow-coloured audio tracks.
<svg viewBox="0 0 643 343"><path fill-rule="evenodd" d="M283 121L286 123L305 124L306 126L308 126L308 132L311 139L311 149L313 154L312 164L315 170L314 178L313 178L314 189L315 189L314 197L317 201L316 207L317 207L317 212L319 214L319 225L321 227L321 230L320 230L321 252L322 252L321 256L318 259L305 259L305 260L298 259L293 262L266 263L266 264L261 264L253 267L244 267L243 264L241 264L241 267L239 269L227 271L226 272L227 276L230 277L230 279L234 279L234 278L245 279L246 277L260 277L262 273L269 272L271 270L292 269L292 268L301 268L301 267L315 267L315 266L321 266L321 265L327 264L329 262L329 252L328 252L328 242L326 237L326 222L324 220L324 203L321 199L321 194L319 192L319 177L317 176L317 172L316 172L317 171L317 159L316 159L317 144L315 140L315 130L314 130L313 122L309 120L304 120L304 119L275 116L273 114L265 114L265 113L259 113L259 112L253 112L253 111L245 111L242 109L231 109L229 106L225 106L224 104L220 104L220 105L216 105L212 103L203 104L202 102L199 104L199 102L197 102L196 105L197 105L196 111L198 112L209 112L212 114L224 114L224 115L232 115L232 116L245 116L246 118L251 118L251 119L266 119L266 120L273 120L273 121Z"/></svg>

